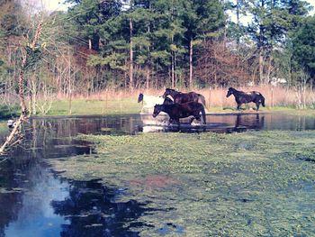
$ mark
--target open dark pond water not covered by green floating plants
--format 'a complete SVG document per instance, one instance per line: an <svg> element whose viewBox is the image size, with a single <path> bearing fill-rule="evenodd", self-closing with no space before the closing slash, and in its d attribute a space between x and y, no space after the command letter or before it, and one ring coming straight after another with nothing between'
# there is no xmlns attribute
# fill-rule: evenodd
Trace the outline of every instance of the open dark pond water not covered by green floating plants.
<svg viewBox="0 0 315 237"><path fill-rule="evenodd" d="M79 133L315 130L313 117L288 114L208 114L206 127L184 123L180 129L166 126L164 120L161 117L162 123L157 123L139 114L30 119L23 143L0 163L0 236L139 236L130 227L149 228L139 217L157 209L150 201L121 201L128 187L60 178L49 167L50 159L96 155L91 144L76 139ZM158 211L169 210L160 207ZM156 233L181 235L184 226L166 223Z"/></svg>

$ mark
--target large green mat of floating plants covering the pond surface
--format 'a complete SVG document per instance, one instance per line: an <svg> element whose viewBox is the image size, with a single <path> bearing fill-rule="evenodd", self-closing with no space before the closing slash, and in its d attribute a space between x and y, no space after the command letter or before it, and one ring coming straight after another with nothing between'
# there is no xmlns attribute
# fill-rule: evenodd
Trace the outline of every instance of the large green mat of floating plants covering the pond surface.
<svg viewBox="0 0 315 237"><path fill-rule="evenodd" d="M128 187L122 200L159 208L139 217L186 236L311 236L315 232L315 132L142 133L80 137L97 155L51 160L67 178ZM165 211L163 211L165 210ZM168 232L179 236L176 228Z"/></svg>

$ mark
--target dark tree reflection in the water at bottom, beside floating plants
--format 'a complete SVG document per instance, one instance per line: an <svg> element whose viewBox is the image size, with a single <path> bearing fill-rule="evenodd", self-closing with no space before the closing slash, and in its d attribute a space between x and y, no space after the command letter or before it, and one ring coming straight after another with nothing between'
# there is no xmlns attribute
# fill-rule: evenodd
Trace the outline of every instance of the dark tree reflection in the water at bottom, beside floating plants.
<svg viewBox="0 0 315 237"><path fill-rule="evenodd" d="M139 232L131 232L130 227L144 226L135 220L154 210L134 200L116 203L117 195L119 190L103 187L97 182L74 181L66 200L52 202L55 213L67 216L69 221L62 227L60 235L139 236Z"/></svg>

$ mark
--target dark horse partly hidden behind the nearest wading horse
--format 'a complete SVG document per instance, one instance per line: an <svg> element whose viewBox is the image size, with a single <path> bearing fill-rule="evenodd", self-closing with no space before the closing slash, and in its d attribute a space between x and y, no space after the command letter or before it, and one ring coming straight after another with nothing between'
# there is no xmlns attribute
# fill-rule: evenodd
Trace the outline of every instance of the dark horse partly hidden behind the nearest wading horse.
<svg viewBox="0 0 315 237"><path fill-rule="evenodd" d="M186 102L194 101L205 106L204 96L193 91L188 93L182 93L174 89L166 88L166 91L163 94L163 98L166 98L166 96L172 96L175 104L183 104Z"/></svg>

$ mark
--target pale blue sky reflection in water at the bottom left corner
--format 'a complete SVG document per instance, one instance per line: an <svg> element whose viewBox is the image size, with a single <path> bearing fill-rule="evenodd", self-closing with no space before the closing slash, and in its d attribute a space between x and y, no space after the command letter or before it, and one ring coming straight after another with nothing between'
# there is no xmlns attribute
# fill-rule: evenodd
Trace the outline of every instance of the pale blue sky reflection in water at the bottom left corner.
<svg viewBox="0 0 315 237"><path fill-rule="evenodd" d="M51 200L62 200L67 194L67 182L52 178L48 168L32 164L30 169L16 170L8 201L1 203L8 215L1 214L3 236L56 236L64 218L54 213ZM26 171L26 172L23 172ZM2 195L0 195L2 196ZM5 195L4 195L5 198ZM12 202L12 198L17 198ZM12 204L15 203L15 208Z"/></svg>

